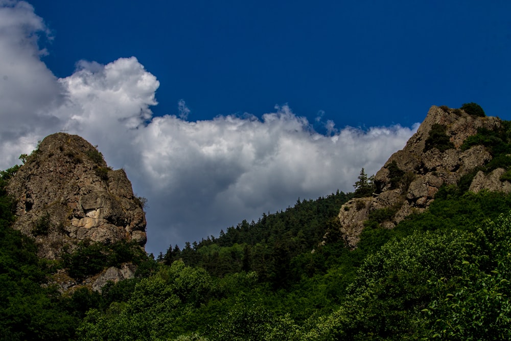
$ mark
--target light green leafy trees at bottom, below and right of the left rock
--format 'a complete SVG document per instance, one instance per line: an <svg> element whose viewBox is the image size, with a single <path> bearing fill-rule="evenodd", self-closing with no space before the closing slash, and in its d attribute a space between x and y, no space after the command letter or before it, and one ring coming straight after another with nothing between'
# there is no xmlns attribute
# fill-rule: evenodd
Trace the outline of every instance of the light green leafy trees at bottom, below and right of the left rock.
<svg viewBox="0 0 511 341"><path fill-rule="evenodd" d="M90 309L78 328L83 340L170 339L197 329L193 315L207 302L211 277L204 269L176 261L136 282L125 302L103 312ZM108 291L107 291L108 292Z"/></svg>

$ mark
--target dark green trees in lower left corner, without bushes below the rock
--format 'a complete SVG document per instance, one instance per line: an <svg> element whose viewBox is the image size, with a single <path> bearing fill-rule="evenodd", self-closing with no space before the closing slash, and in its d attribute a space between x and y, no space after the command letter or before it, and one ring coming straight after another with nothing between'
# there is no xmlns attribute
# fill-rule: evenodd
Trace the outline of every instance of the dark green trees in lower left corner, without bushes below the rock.
<svg viewBox="0 0 511 341"><path fill-rule="evenodd" d="M14 204L5 186L17 167L0 173L0 339L66 340L79 321L60 304L47 283L47 264L33 240L11 228Z"/></svg>

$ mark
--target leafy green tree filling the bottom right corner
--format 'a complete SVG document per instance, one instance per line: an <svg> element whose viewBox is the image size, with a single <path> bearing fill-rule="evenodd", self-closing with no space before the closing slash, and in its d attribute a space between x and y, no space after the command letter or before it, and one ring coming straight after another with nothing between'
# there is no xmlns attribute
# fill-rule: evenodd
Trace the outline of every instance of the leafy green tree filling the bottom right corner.
<svg viewBox="0 0 511 341"><path fill-rule="evenodd" d="M455 263L461 274L432 282L438 297L424 309L430 337L446 340L511 339L511 218L487 221L468 253Z"/></svg>

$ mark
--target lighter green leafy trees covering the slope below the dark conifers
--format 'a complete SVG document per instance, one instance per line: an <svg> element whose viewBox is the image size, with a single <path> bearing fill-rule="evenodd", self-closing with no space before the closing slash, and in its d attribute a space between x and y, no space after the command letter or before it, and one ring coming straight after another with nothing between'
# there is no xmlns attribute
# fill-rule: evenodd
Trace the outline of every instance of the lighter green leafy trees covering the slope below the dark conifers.
<svg viewBox="0 0 511 341"><path fill-rule="evenodd" d="M160 262L152 276L105 288L78 333L84 340L480 339L481 324L492 328L485 339L506 338L510 204L501 193L446 187L429 211L393 230L369 224L354 251L339 241L292 257L292 280L278 288L257 271L218 276L183 260ZM197 244L196 257L214 243Z"/></svg>

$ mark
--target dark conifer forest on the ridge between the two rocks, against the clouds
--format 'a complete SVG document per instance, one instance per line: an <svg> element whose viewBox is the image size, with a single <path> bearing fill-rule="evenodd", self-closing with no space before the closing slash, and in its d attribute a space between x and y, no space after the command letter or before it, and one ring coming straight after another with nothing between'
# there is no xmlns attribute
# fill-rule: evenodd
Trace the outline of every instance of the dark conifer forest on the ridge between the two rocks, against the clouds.
<svg viewBox="0 0 511 341"><path fill-rule="evenodd" d="M330 232L336 241L335 217L341 205L352 196L332 193L317 200L298 199L294 207L275 214L263 214L257 222L243 220L236 228L221 231L218 238L208 237L199 243L170 247L160 255L166 265L183 260L189 266L205 268L213 276L223 277L240 271L256 271L262 281L278 289L292 283L299 275L292 271L293 258L310 253Z"/></svg>

